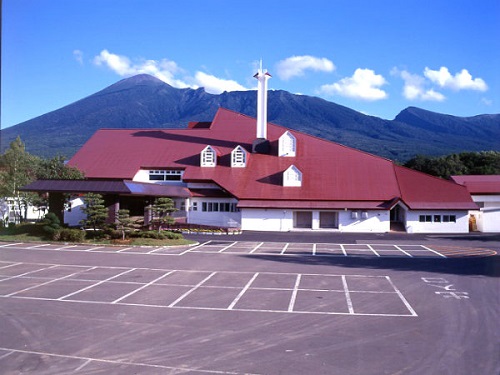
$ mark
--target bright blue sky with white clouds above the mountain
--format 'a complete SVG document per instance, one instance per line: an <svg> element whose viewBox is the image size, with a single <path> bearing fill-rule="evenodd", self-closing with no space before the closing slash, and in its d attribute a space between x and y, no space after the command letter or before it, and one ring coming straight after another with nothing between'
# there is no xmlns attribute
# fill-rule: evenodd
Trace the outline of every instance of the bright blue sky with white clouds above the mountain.
<svg viewBox="0 0 500 375"><path fill-rule="evenodd" d="M3 0L2 128L149 73L393 119L500 113L498 0ZM207 120L207 119L200 119Z"/></svg>

